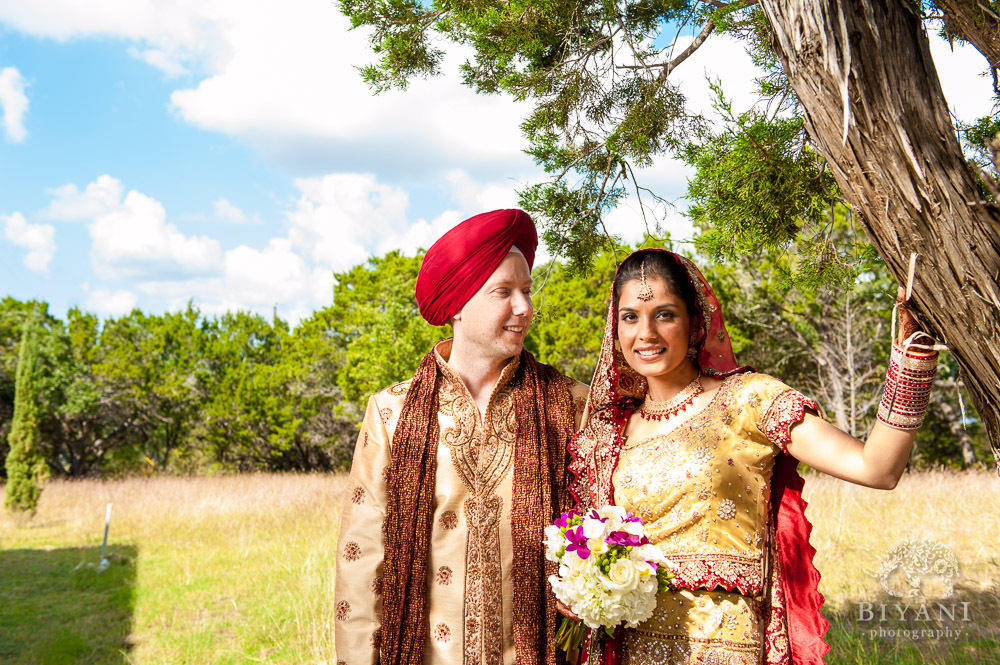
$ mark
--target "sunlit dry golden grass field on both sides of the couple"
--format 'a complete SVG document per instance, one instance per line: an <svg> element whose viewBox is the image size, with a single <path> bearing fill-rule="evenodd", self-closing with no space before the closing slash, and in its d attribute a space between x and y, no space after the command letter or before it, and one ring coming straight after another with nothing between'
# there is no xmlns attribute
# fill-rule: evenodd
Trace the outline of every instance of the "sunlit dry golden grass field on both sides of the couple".
<svg viewBox="0 0 1000 665"><path fill-rule="evenodd" d="M123 653L111 648L102 655L96 647L88 652L73 642L56 644L53 653L69 650L77 654L75 660L46 661L31 654L5 658L2 652L0 660L336 662L333 585L345 488L346 476L329 475L52 481L30 526L0 518L0 549L28 549L40 556L89 546L70 554L94 558L105 505L113 503L111 550L134 559L124 562L134 566L127 578L134 584L131 623L123 633L129 638L118 647ZM911 658L909 652L886 651L884 644L867 640L852 619L856 602L884 597L873 573L880 557L903 541L930 539L949 547L961 566L962 598L971 599L980 614L992 613L969 628L989 633L991 640L1000 634L1000 480L995 473L907 474L892 492L812 475L805 498L823 574L820 589L834 623L828 663L921 662L919 651ZM37 642L40 626L26 628L35 631L26 643ZM64 637L65 630L52 639ZM972 647L972 652L966 645L960 655L933 662L991 662L995 643ZM977 660L980 656L986 660Z"/></svg>

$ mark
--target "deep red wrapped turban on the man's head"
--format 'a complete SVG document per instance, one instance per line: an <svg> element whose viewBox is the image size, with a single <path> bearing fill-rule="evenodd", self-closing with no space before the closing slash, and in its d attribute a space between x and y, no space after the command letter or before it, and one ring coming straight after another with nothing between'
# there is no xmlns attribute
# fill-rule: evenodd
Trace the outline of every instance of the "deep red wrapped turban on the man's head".
<svg viewBox="0 0 1000 665"><path fill-rule="evenodd" d="M523 210L484 212L445 233L427 250L417 274L420 315L433 326L447 323L515 245L530 269L535 263L538 233Z"/></svg>

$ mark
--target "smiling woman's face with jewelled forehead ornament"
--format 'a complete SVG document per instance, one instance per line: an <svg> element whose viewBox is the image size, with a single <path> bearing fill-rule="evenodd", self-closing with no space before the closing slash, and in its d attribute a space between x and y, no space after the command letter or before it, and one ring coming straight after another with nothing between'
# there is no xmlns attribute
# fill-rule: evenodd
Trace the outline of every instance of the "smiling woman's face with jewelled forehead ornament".
<svg viewBox="0 0 1000 665"><path fill-rule="evenodd" d="M687 376L693 363L687 357L691 317L684 300L667 282L647 276L653 290L649 300L639 298L641 282L625 282L618 296L618 342L625 361L647 379Z"/></svg>

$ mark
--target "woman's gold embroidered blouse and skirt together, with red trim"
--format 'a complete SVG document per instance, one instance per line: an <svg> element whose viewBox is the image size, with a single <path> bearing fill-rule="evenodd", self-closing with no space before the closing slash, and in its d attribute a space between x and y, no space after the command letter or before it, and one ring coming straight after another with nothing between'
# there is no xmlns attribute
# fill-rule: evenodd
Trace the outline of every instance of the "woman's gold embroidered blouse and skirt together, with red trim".
<svg viewBox="0 0 1000 665"><path fill-rule="evenodd" d="M663 432L633 416L615 503L642 518L676 568L676 591L626 635L626 661L760 661L769 579L770 482L789 429L815 402L765 374L727 378L701 412ZM663 432L663 433L661 433Z"/></svg>

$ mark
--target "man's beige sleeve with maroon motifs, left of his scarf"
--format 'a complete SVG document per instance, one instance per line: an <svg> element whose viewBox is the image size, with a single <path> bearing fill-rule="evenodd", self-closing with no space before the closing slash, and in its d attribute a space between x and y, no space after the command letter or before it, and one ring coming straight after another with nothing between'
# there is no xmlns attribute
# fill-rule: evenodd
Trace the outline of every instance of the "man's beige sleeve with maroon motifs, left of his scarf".
<svg viewBox="0 0 1000 665"><path fill-rule="evenodd" d="M340 518L335 580L337 661L374 665L382 625L382 522L385 520L385 477L389 435L375 397L354 448L354 462Z"/></svg>

